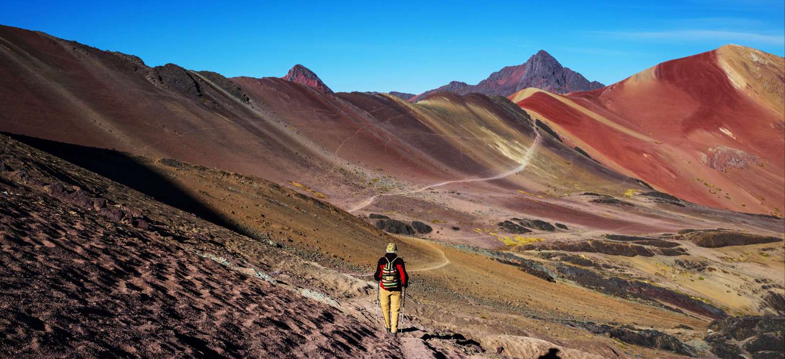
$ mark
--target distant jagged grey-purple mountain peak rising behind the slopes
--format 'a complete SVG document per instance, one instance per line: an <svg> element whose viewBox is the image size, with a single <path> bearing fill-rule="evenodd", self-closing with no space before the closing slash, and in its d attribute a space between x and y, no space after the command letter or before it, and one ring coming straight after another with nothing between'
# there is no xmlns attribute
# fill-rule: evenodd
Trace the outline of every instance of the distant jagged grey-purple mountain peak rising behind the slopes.
<svg viewBox="0 0 785 359"><path fill-rule="evenodd" d="M554 93L568 93L600 89L604 85L596 81L590 82L582 74L572 71L569 67L561 66L561 63L550 53L539 50L525 63L502 67L501 70L492 73L476 85L453 81L439 88L422 92L409 100L416 102L433 92L455 92L458 95L479 92L485 95L510 96L529 87Z"/></svg>

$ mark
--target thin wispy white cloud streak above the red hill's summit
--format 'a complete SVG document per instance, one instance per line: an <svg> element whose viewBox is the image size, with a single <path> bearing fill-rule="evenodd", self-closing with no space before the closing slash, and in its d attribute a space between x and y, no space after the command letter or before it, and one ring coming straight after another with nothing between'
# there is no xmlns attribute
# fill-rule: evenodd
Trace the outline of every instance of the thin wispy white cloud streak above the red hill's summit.
<svg viewBox="0 0 785 359"><path fill-rule="evenodd" d="M785 45L782 34L761 34L757 32L721 30L673 30L673 31L591 31L613 38L628 40L666 40L675 42L722 40L724 42L754 42L769 45Z"/></svg>

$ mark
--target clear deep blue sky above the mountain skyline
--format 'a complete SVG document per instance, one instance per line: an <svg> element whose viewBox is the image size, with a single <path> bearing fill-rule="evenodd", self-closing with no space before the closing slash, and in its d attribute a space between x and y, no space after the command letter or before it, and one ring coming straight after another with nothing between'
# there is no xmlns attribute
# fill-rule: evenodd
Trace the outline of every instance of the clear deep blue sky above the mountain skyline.
<svg viewBox="0 0 785 359"><path fill-rule="evenodd" d="M0 0L0 24L229 77L302 63L336 91L474 84L539 49L605 84L728 43L785 53L785 0L552 4Z"/></svg>

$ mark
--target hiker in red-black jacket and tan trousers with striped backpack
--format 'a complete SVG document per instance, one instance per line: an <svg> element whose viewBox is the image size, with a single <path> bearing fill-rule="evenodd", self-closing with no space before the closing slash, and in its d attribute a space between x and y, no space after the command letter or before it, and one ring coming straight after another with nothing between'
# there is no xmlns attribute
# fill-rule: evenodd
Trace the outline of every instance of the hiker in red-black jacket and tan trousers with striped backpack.
<svg viewBox="0 0 785 359"><path fill-rule="evenodd" d="M379 302L385 317L385 329L393 336L397 336L401 289L407 287L409 276L406 274L403 258L396 254L398 248L395 243L387 245L386 252L376 265L374 280L379 282Z"/></svg>

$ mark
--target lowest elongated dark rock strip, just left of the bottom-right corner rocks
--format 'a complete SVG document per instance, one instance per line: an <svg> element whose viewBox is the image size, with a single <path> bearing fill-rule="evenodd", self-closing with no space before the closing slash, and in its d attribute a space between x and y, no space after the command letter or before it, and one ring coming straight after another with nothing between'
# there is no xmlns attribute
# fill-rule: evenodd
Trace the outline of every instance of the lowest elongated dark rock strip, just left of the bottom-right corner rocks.
<svg viewBox="0 0 785 359"><path fill-rule="evenodd" d="M619 339L624 343L648 348L669 350L677 354L694 355L691 347L681 343L673 335L665 334L654 329L633 330L628 328L615 328L610 325L590 325L589 331L594 334L607 334L611 338Z"/></svg>

